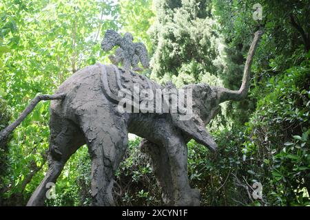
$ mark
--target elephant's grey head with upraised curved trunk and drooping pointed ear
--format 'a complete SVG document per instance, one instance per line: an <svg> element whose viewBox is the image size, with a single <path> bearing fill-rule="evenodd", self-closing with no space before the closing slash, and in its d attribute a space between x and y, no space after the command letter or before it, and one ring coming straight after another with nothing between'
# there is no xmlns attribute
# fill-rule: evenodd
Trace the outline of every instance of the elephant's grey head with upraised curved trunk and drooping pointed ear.
<svg viewBox="0 0 310 220"><path fill-rule="evenodd" d="M228 100L242 100L247 97L250 85L250 69L254 58L258 41L262 32L255 33L254 41L249 49L247 62L242 79L242 85L238 91L225 89L223 87L210 87L206 84L187 85L183 89L192 90L193 117L190 120L179 120L177 115L172 115L172 120L178 128L187 135L187 139L193 138L200 144L211 150L216 149L216 143L206 131L205 126L216 116L220 109L220 103Z"/></svg>

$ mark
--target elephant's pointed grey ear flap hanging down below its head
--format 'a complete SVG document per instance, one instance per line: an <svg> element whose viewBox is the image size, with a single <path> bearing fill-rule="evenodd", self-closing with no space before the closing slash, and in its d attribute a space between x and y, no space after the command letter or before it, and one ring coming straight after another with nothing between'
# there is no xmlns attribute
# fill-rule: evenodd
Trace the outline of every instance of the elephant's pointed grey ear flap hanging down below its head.
<svg viewBox="0 0 310 220"><path fill-rule="evenodd" d="M180 120L177 113L172 113L171 115L172 122L178 127L178 129L183 131L186 135L189 135L189 137L192 137L199 144L207 146L211 151L216 151L218 146L209 132L205 129L203 120L201 120L198 115L194 114L189 120Z"/></svg>

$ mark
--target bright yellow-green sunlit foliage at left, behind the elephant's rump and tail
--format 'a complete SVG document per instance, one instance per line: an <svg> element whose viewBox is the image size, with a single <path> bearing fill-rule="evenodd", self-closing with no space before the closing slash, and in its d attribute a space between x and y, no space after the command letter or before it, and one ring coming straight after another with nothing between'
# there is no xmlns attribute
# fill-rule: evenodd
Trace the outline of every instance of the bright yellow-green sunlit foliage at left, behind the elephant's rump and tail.
<svg viewBox="0 0 310 220"><path fill-rule="evenodd" d="M107 29L121 28L123 19L116 1L1 1L0 97L6 96L12 119L34 96L52 94L76 70L97 61L107 63L108 54L100 49L101 36ZM48 102L38 104L9 143L10 175L4 178L3 197L13 204L15 193L22 192L25 199L31 195L47 168L43 156L48 149L49 117ZM25 184L30 170L36 168L31 164L44 166L30 179L31 184ZM77 175L78 170L72 169Z"/></svg>

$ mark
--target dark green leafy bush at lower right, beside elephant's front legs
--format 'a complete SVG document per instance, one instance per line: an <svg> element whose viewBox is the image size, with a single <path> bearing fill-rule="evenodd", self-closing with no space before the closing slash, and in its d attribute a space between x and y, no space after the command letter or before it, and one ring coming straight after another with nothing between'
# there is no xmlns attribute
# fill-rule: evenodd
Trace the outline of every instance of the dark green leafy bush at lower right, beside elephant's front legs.
<svg viewBox="0 0 310 220"><path fill-rule="evenodd" d="M270 78L270 91L261 95L249 122L215 134L216 155L199 145L189 148L189 158L195 156L189 170L194 185L205 191L205 204L309 205L309 67L306 59ZM260 200L251 197L254 182L263 187Z"/></svg>

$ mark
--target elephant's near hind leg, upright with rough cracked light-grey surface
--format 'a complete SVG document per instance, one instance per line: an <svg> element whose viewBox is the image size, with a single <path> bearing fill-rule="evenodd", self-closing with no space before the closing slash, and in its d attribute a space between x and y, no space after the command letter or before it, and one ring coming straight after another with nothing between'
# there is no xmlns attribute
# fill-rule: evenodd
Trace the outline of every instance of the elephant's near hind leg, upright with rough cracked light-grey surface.
<svg viewBox="0 0 310 220"><path fill-rule="evenodd" d="M125 120L97 106L81 116L92 159L92 206L114 206L114 173L127 149Z"/></svg>

